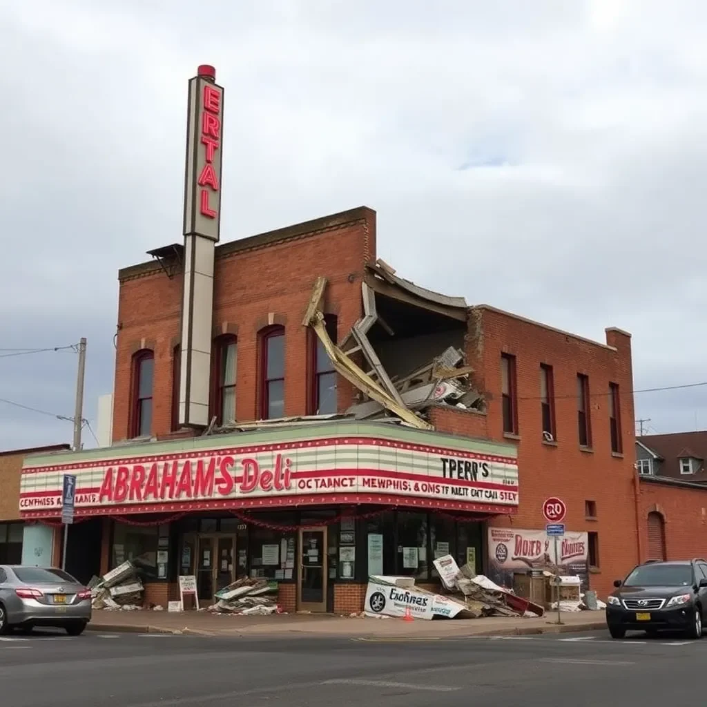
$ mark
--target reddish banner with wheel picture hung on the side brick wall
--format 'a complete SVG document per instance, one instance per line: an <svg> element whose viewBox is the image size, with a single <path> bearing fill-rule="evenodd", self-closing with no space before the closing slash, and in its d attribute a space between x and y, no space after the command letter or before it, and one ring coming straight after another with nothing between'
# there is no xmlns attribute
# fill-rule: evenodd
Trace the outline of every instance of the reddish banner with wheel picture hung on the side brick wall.
<svg viewBox="0 0 707 707"><path fill-rule="evenodd" d="M567 574L578 575L583 590L589 585L588 534L566 532L554 538L544 530L489 528L489 578L502 587L513 587L513 573L541 570L555 565Z"/></svg>

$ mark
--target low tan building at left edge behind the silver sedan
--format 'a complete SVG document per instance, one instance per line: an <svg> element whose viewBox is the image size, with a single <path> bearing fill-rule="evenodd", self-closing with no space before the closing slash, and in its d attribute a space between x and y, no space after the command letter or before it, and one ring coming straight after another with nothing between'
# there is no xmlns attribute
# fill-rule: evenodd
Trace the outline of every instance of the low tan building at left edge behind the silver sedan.
<svg viewBox="0 0 707 707"><path fill-rule="evenodd" d="M20 478L29 454L69 450L69 445L52 445L0 452L0 564L51 566L57 563L58 547L54 527L25 522L20 513Z"/></svg>

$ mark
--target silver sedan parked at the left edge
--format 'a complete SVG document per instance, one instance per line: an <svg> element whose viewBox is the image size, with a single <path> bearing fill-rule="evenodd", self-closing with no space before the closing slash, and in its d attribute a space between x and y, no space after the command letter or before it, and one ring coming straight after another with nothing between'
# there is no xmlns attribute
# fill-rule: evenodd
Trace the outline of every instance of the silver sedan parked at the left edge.
<svg viewBox="0 0 707 707"><path fill-rule="evenodd" d="M0 565L0 635L35 626L78 636L91 619L91 593L54 567Z"/></svg>

